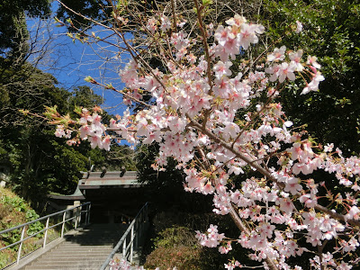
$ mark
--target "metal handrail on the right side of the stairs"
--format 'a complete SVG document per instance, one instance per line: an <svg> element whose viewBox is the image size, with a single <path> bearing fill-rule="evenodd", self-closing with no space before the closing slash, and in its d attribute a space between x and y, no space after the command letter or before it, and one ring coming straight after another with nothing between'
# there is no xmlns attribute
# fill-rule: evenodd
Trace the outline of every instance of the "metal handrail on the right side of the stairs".
<svg viewBox="0 0 360 270"><path fill-rule="evenodd" d="M126 229L125 233L122 235L119 242L112 249L112 253L107 257L106 261L101 266L100 270L105 270L111 260L112 257L116 254L116 252L122 246L122 258L127 260L129 257L130 263L132 263L132 256L134 252L134 246L138 247L139 238L143 235L145 230L145 221L148 219L148 202L145 203L144 206L140 209L135 219L131 221L128 229ZM135 245L134 245L135 242ZM128 245L126 243L129 243Z"/></svg>

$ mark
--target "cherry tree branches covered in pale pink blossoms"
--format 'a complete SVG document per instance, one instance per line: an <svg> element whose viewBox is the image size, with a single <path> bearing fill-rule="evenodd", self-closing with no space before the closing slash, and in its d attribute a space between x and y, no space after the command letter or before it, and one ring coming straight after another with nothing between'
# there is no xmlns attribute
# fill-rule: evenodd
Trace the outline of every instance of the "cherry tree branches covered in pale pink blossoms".
<svg viewBox="0 0 360 270"><path fill-rule="evenodd" d="M304 254L313 269L357 266L360 159L343 157L332 144L322 147L303 127L293 127L279 98L294 81L304 85L299 94L318 91L325 78L317 58L276 42L259 44L265 27L239 14L214 25L207 20L211 1L192 3L191 22L175 0L148 13L136 13L130 1L109 1L113 25L93 23L112 31L121 40L115 45L131 59L120 72L126 87L103 87L143 109L128 108L104 125L98 109L77 108L78 119L70 119L48 108L56 136L105 149L120 139L133 145L157 141L154 169L165 169L167 158L174 158L186 175L185 190L211 195L213 211L229 215L239 229L238 238L228 238L211 224L196 232L203 246L228 253L241 245L265 269L302 269L288 258ZM137 22L142 43L126 38L129 20ZM301 32L302 23L293 23ZM80 40L96 40L82 34ZM151 65L154 58L159 67ZM253 176L244 173L248 168ZM329 190L315 177L318 171L341 188ZM233 183L236 175L244 176ZM236 258L225 266L236 267L244 267Z"/></svg>

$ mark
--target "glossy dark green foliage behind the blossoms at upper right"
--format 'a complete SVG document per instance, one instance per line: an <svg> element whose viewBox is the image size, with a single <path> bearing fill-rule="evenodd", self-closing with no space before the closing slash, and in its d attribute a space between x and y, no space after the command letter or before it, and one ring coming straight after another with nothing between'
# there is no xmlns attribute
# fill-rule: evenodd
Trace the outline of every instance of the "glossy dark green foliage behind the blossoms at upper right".
<svg viewBox="0 0 360 270"><path fill-rule="evenodd" d="M266 0L263 8L268 35L279 40L275 47L302 48L306 55L316 55L326 78L311 97L299 95L303 85L295 82L282 94L284 111L297 125L306 123L312 137L334 142L347 155L360 152L359 10L360 4L351 0ZM303 24L300 34L294 32L296 21Z"/></svg>

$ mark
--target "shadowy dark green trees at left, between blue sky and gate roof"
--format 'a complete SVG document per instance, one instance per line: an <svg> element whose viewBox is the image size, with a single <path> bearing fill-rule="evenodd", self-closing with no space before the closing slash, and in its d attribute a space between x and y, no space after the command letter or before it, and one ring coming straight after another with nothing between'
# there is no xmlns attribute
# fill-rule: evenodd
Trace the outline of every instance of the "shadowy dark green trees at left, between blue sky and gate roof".
<svg viewBox="0 0 360 270"><path fill-rule="evenodd" d="M46 122L22 113L41 114L44 105L57 104L61 107L60 112L75 115L78 104L94 107L103 103L103 98L88 86L67 92L56 87L53 76L30 64L26 63L21 69L0 67L3 67L0 69L0 90L4 101L0 104L2 159L13 165L11 184L23 197L37 201L41 194L49 192L73 193L81 177L80 171L88 169L88 157L92 157L93 164L99 168L134 167L126 158L121 162L110 158L124 156L128 151L125 147L119 146L120 150L112 153L92 149L88 144L72 148L64 144L64 139L54 138L54 130ZM104 119L109 118L104 113Z"/></svg>

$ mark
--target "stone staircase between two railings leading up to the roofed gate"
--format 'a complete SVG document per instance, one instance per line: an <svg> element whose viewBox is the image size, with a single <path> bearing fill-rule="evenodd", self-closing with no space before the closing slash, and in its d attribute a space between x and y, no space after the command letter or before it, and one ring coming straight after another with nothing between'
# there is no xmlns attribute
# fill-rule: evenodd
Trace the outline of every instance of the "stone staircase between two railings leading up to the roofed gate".
<svg viewBox="0 0 360 270"><path fill-rule="evenodd" d="M98 270L128 224L92 224L51 248L22 270Z"/></svg>

